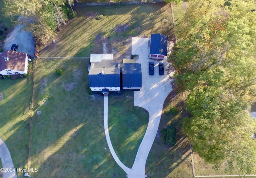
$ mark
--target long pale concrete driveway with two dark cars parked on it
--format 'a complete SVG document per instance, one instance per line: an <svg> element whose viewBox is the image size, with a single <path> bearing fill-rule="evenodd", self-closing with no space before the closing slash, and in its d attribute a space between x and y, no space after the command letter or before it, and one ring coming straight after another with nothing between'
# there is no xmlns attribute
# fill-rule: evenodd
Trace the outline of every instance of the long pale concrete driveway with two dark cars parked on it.
<svg viewBox="0 0 256 178"><path fill-rule="evenodd" d="M146 160L156 137L164 100L173 90L170 84L170 76L173 75L173 72L170 74L166 72L170 63L166 60L161 61L164 63L164 75L160 76L158 74L159 62L148 58L150 51L148 40L150 39L132 38L132 54L139 56L139 60L137 60L136 63L140 63L142 68L142 88L140 91L134 91L134 106L142 107L148 111L149 122L132 169L128 172L128 178L145 178ZM153 76L148 74L148 63L150 61L155 64L155 74Z"/></svg>

